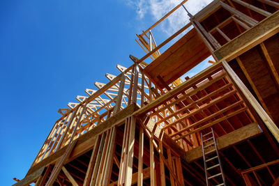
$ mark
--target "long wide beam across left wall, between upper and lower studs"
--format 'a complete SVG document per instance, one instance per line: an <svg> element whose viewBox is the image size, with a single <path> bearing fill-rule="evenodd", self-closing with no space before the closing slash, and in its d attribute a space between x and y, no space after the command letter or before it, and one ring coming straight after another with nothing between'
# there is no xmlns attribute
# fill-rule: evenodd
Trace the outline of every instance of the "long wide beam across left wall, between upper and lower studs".
<svg viewBox="0 0 279 186"><path fill-rule="evenodd" d="M105 130L109 129L114 125L119 125L123 120L125 120L126 117L133 114L133 112L136 111L138 108L139 107L137 107L136 104L130 104L125 109L119 111L116 115L107 119L107 121L100 123L100 125L94 127L89 132L86 132L81 137L75 139L77 140L77 144L73 149L73 152L70 154L70 157L68 157L68 160L66 160L66 162L70 162L70 160L73 160L76 157L86 153L88 150L91 150L93 148L93 144L97 134L104 132ZM50 155L49 157L46 157L41 162L38 162L38 164L31 166L31 168L27 172L27 176L29 176L34 171L40 169L42 166L55 162L59 157L61 157L61 155L63 155L67 146L64 146L60 150L57 150L54 154Z"/></svg>

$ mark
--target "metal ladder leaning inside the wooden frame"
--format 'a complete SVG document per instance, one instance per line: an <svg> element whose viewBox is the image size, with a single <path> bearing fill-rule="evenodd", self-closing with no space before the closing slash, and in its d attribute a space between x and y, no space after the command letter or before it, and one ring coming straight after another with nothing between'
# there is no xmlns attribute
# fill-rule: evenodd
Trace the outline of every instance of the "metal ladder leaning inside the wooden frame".
<svg viewBox="0 0 279 186"><path fill-rule="evenodd" d="M218 184L218 186L226 185L224 171L218 153L218 148L217 148L216 138L213 132L213 128L211 127L211 132L207 134L201 133L201 139L202 139L202 155L204 156L204 171L205 171L206 185L209 186L209 180L219 176L222 176L223 183ZM217 163L214 164L213 166L208 167L209 162L212 163L213 161ZM218 169L218 167L220 169ZM209 171L213 169L215 169L217 173L215 173L212 176L209 176Z"/></svg>

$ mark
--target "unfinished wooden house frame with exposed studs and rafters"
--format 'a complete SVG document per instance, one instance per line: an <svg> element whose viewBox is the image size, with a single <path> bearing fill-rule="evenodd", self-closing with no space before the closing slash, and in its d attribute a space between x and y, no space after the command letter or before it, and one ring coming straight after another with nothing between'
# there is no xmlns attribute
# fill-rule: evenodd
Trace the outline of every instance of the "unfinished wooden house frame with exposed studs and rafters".
<svg viewBox="0 0 279 186"><path fill-rule="evenodd" d="M279 1L196 15L186 1L137 35L145 56L59 109L15 185L279 185ZM157 45L152 29L178 8L190 22Z"/></svg>

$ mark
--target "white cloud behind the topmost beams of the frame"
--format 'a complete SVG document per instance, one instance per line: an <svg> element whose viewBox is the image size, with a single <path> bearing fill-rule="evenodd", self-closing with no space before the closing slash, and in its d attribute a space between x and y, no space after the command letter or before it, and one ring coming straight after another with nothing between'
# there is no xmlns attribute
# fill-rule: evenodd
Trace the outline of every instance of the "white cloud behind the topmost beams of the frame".
<svg viewBox="0 0 279 186"><path fill-rule="evenodd" d="M187 10L195 15L199 10L202 10L212 0L188 0L184 3ZM126 0L126 3L135 8L137 16L142 19L147 13L151 15L154 22L160 20L172 8L181 3L181 0ZM160 24L160 29L167 33L168 36L178 31L189 22L186 10L183 7L177 9L172 15Z"/></svg>

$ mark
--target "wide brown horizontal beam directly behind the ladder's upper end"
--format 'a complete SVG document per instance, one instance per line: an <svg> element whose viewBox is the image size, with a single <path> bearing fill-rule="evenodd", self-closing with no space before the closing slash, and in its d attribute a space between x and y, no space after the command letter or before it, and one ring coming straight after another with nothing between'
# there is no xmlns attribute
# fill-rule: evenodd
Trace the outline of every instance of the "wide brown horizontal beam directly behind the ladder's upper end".
<svg viewBox="0 0 279 186"><path fill-rule="evenodd" d="M234 146L241 143L242 141L246 141L252 137L256 137L261 133L262 130L259 128L259 125L257 125L257 123L251 123L237 130L234 130L233 132L229 132L229 134L225 134L222 137L219 137L217 139L218 150L223 150L230 146ZM202 158L202 146L186 152L186 160L188 162L194 162L196 160L199 160L200 158Z"/></svg>

